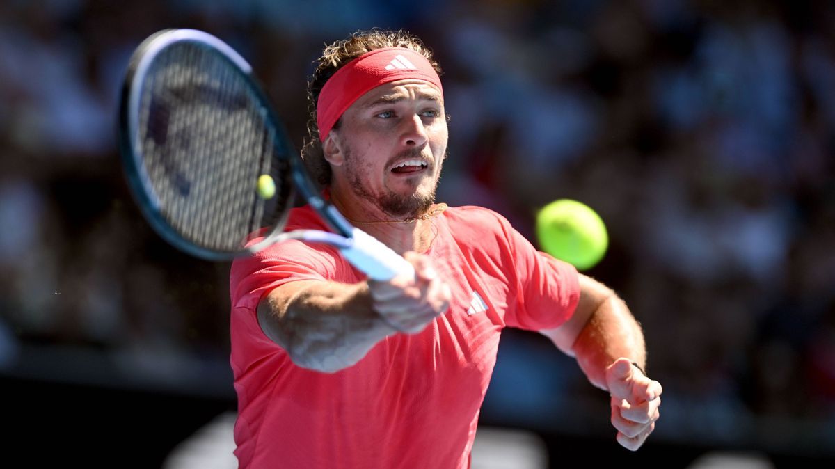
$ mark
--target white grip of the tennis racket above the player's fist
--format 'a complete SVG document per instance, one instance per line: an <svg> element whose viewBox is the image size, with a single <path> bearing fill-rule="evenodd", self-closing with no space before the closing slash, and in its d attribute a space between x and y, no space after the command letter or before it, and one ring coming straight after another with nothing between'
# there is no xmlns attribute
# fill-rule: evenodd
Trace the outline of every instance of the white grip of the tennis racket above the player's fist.
<svg viewBox="0 0 835 469"><path fill-rule="evenodd" d="M397 275L415 275L414 267L401 255L383 245L362 229L354 228L352 244L342 248L342 255L372 280L392 280Z"/></svg>

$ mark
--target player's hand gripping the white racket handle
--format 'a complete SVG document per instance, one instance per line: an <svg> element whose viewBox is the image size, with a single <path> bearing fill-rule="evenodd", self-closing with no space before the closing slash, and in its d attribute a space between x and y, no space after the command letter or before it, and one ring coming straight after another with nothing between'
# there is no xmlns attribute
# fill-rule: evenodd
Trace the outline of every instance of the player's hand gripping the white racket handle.
<svg viewBox="0 0 835 469"><path fill-rule="evenodd" d="M446 312L452 293L427 256L407 252L403 257L415 268L413 278L369 280L368 287L373 308L385 324L399 332L417 334Z"/></svg>

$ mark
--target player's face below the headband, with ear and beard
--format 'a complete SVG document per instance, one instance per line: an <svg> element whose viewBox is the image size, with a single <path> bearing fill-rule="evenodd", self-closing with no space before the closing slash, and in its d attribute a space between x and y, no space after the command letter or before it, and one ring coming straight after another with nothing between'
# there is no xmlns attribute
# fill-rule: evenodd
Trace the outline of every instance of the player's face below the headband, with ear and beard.
<svg viewBox="0 0 835 469"><path fill-rule="evenodd" d="M425 213L434 202L447 151L438 88L419 80L381 85L357 99L341 121L331 131L341 158L328 159L334 177L342 179L335 183L390 216Z"/></svg>

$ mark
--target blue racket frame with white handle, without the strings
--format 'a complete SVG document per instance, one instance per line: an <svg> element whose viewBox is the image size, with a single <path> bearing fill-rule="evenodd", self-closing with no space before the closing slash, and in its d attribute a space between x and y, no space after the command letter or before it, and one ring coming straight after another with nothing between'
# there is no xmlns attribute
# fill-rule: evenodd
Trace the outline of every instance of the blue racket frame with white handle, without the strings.
<svg viewBox="0 0 835 469"><path fill-rule="evenodd" d="M211 250L195 245L195 243L180 235L165 219L161 203L159 199L154 197L154 189L150 184L149 175L145 171L141 151L134 147L134 144L139 144L139 139L136 138L139 134L139 123L136 118L139 116L139 103L144 88L143 86L136 86L136 84L144 79L151 63L160 51L181 41L207 44L208 47L214 48L220 57L230 61L233 68L237 69L241 78L246 81L248 87L261 103L261 112L267 130L272 132L274 137L272 141L275 144L272 151L279 159L290 166L289 177L285 172L282 174L285 179L279 181L282 190L286 191L286 204L283 204L284 209L277 217L276 224L269 233L264 234L261 241L246 245L239 251ZM374 280L388 280L395 275L414 276L414 268L407 260L404 260L371 235L367 235L361 229L352 226L334 205L328 203L322 197L319 189L311 182L310 175L301 161L301 156L296 153L296 149L291 145L290 139L287 138L286 130L281 124L281 120L277 119L271 101L263 89L253 76L251 65L228 44L209 33L196 29L166 29L151 35L139 44L131 57L119 105L119 146L129 187L138 200L145 218L149 220L149 224L171 245L204 260L232 260L240 255L251 255L283 240L304 240L337 247L349 262ZM296 197L296 191L301 192L306 202L316 210L322 221L333 232L329 233L316 229L283 232ZM283 196L284 194L282 194Z"/></svg>

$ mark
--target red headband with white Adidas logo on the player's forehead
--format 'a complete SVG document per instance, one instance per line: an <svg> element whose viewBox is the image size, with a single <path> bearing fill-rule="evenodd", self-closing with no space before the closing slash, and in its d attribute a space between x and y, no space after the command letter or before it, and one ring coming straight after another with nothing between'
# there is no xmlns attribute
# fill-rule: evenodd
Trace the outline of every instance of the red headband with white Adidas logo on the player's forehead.
<svg viewBox="0 0 835 469"><path fill-rule="evenodd" d="M441 78L423 54L407 48L382 48L346 63L327 80L316 103L319 139L325 141L334 124L354 101L372 88L397 80L432 83L443 93Z"/></svg>

